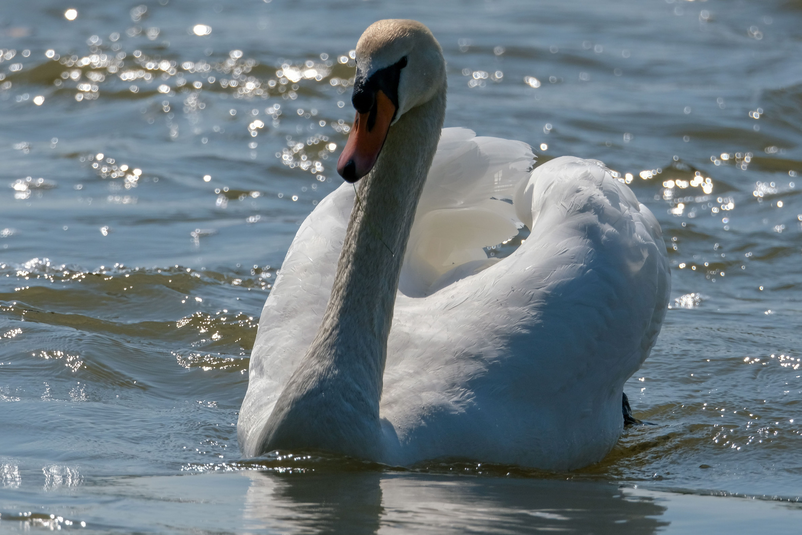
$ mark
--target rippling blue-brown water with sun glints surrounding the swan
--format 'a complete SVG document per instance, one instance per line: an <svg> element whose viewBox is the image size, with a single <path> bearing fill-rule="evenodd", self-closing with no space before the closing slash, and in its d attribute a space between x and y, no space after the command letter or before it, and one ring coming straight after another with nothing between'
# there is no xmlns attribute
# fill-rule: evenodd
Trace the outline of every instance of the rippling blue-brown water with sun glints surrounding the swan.
<svg viewBox="0 0 802 535"><path fill-rule="evenodd" d="M37 6L0 6L0 531L796 532L798 4ZM447 126L603 160L662 225L671 310L626 385L658 425L600 464L240 459L261 306L339 184L348 53L393 17L444 47Z"/></svg>

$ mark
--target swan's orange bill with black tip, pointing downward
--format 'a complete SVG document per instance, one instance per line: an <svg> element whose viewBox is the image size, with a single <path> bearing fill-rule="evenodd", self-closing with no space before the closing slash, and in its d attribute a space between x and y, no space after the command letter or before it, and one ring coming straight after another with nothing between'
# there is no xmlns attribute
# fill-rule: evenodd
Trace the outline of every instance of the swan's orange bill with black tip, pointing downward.
<svg viewBox="0 0 802 535"><path fill-rule="evenodd" d="M357 112L346 148L342 149L337 162L337 172L342 178L356 182L371 172L394 116L395 104L381 90L376 91L376 102L371 111Z"/></svg>

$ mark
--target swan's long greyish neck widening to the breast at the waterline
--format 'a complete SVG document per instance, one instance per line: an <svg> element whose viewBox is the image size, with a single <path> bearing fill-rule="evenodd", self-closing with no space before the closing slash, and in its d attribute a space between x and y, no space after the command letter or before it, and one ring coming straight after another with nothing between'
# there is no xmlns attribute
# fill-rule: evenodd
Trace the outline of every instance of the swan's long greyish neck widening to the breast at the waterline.
<svg viewBox="0 0 802 535"><path fill-rule="evenodd" d="M443 87L390 128L379 160L358 184L321 326L277 399L261 451L322 448L379 459L387 336L445 95Z"/></svg>

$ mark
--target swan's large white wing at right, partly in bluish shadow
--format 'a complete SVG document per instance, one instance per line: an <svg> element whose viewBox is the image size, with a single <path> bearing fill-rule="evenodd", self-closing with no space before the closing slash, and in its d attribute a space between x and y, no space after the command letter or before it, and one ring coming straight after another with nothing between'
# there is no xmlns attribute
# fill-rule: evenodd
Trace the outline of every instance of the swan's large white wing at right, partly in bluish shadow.
<svg viewBox="0 0 802 535"><path fill-rule="evenodd" d="M515 253L396 301L382 398L395 462L572 468L618 439L622 385L666 312L659 225L595 160L551 160L513 197L531 229Z"/></svg>

